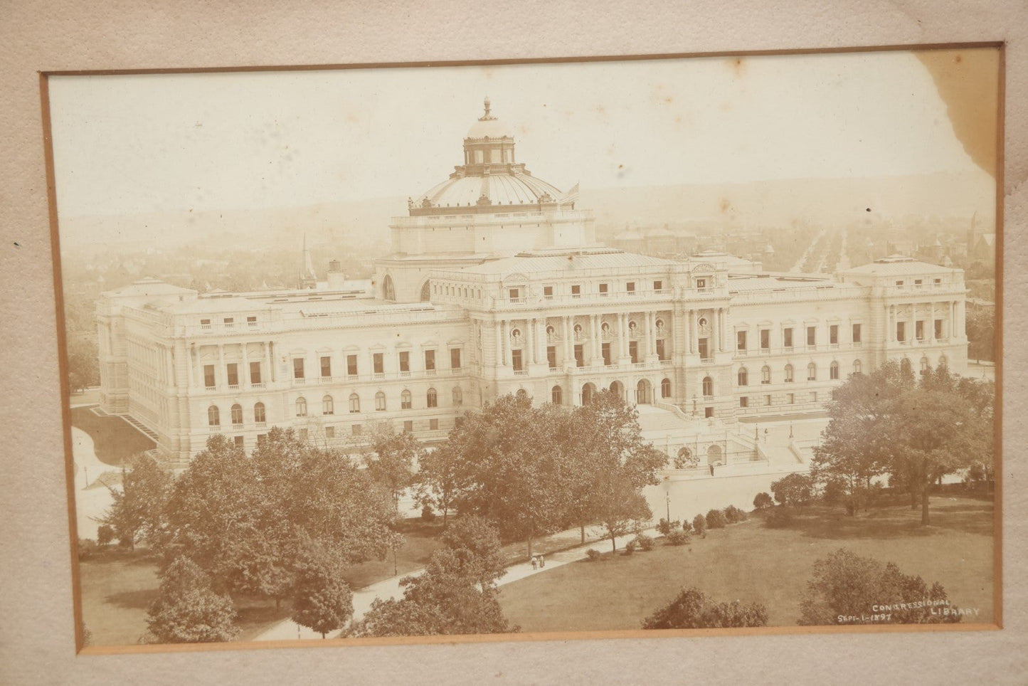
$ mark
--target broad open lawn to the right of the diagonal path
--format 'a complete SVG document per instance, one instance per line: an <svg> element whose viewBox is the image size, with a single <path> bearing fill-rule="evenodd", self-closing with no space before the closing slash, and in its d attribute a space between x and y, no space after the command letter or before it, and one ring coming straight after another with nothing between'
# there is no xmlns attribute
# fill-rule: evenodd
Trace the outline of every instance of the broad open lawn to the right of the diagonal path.
<svg viewBox="0 0 1028 686"><path fill-rule="evenodd" d="M981 610L974 621L992 621L992 503L941 496L932 499L932 526L922 528L920 516L902 504L856 517L812 507L787 529L767 529L754 515L687 546L658 543L650 552L554 568L504 585L500 602L522 631L630 629L683 586L696 586L719 602L764 603L769 624L794 625L814 561L846 547L929 585L940 581L950 602Z"/></svg>

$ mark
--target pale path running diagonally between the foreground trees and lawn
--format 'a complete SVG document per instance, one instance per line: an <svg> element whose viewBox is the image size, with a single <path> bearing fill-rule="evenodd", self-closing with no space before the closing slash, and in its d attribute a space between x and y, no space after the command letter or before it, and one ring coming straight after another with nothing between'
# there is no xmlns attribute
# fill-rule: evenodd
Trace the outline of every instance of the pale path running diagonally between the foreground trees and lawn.
<svg viewBox="0 0 1028 686"><path fill-rule="evenodd" d="M650 530L646 532L651 536L655 536L656 532ZM617 538L618 549L622 549L624 545L635 538L634 534L629 534L627 536L621 536ZM507 573L504 574L497 581L497 585L503 586L520 579L527 578L536 574L543 574L549 570L562 567L568 563L574 563L579 559L584 559L586 557L585 551L589 548L595 548L600 552L607 552L611 547L610 539L600 541L590 541L584 545L578 545L574 548L567 550L561 550L559 552L551 552L545 555L546 566L538 569L531 568L531 563L519 563L517 565L511 565L507 568ZM409 574L401 574L400 576L395 576L389 579L384 579L377 583L373 583L365 588L354 591L354 617L352 621L359 621L364 617L364 614L371 608L371 603L376 598L387 600L390 598L403 598L403 590L400 587L400 579L407 576L414 576L420 574L424 570L418 570ZM306 626L300 626L292 620L282 621L271 628L267 629L263 634L259 635L254 639L254 641L283 641L290 639L320 639L321 634L317 634Z"/></svg>

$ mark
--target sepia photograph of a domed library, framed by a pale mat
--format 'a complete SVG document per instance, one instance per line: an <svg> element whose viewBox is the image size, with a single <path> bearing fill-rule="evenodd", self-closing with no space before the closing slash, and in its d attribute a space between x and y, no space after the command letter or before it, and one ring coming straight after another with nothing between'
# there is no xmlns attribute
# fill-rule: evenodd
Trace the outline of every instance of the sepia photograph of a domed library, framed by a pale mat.
<svg viewBox="0 0 1028 686"><path fill-rule="evenodd" d="M46 75L79 650L997 627L1001 75Z"/></svg>

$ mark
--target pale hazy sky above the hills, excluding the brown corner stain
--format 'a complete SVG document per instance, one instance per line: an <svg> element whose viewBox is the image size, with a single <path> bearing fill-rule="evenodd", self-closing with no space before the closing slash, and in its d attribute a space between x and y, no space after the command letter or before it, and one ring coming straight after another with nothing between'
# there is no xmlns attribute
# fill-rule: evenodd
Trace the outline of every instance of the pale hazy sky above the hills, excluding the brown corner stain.
<svg viewBox="0 0 1028 686"><path fill-rule="evenodd" d="M416 196L482 99L566 189L978 171L906 52L53 77L63 216Z"/></svg>

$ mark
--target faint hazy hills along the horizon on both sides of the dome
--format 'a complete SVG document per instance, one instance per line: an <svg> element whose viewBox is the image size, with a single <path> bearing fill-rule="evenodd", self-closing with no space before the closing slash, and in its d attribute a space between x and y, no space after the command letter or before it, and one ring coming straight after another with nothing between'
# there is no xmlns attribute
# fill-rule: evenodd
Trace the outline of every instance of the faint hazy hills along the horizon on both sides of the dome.
<svg viewBox="0 0 1028 686"><path fill-rule="evenodd" d="M688 230L788 227L798 223L849 225L904 216L970 217L993 221L994 184L983 173L876 179L794 179L736 184L584 188L578 204L597 227L661 225ZM870 209L870 212L869 212ZM111 217L62 217L64 245L203 243L213 248L344 247L350 254L389 250L390 218L405 214L405 197L377 197L307 207L222 212L175 211Z"/></svg>

